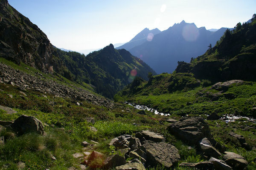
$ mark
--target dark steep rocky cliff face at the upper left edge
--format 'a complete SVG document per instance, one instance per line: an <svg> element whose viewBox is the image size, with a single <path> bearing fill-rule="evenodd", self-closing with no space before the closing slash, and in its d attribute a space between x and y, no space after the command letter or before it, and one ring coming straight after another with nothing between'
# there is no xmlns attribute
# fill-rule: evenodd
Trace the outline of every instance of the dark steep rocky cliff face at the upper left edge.
<svg viewBox="0 0 256 170"><path fill-rule="evenodd" d="M53 46L38 26L0 0L0 56L51 72Z"/></svg>

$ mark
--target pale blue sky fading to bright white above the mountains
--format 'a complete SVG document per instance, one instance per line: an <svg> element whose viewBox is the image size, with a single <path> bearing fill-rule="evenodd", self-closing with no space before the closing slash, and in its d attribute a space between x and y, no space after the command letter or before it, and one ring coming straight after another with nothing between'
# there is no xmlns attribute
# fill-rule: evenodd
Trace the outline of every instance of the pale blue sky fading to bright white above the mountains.
<svg viewBox="0 0 256 170"><path fill-rule="evenodd" d="M256 13L256 0L8 0L58 48L80 51L125 43L144 28L185 20L233 28Z"/></svg>

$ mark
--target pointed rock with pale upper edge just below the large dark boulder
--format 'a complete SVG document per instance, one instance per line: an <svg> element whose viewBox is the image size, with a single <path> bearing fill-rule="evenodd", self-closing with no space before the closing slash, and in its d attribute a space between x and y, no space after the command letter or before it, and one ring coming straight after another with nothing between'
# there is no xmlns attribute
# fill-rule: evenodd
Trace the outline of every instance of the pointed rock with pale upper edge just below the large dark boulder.
<svg viewBox="0 0 256 170"><path fill-rule="evenodd" d="M212 146L211 142L207 138L203 138L201 141L199 141L199 147L203 154L208 158L218 158L219 156L221 156L221 153Z"/></svg>

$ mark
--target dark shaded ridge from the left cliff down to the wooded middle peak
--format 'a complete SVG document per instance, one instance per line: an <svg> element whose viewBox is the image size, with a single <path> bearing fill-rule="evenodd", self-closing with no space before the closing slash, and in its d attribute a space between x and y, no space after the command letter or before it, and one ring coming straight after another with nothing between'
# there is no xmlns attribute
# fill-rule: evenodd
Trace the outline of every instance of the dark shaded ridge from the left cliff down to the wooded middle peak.
<svg viewBox="0 0 256 170"><path fill-rule="evenodd" d="M112 44L87 56L61 51L7 0L0 1L0 57L60 74L81 85L92 84L96 92L108 98L129 83L131 70L136 69L144 79L148 72L156 74L143 61L124 50L115 50Z"/></svg>

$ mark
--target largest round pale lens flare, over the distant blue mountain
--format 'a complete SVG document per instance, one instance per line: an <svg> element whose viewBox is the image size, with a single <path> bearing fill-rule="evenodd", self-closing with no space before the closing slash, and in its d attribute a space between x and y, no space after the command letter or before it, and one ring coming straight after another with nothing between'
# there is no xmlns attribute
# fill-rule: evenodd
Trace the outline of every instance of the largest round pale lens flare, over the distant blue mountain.
<svg viewBox="0 0 256 170"><path fill-rule="evenodd" d="M189 24L184 26L182 36L186 41L192 42L198 39L199 31L195 25Z"/></svg>

